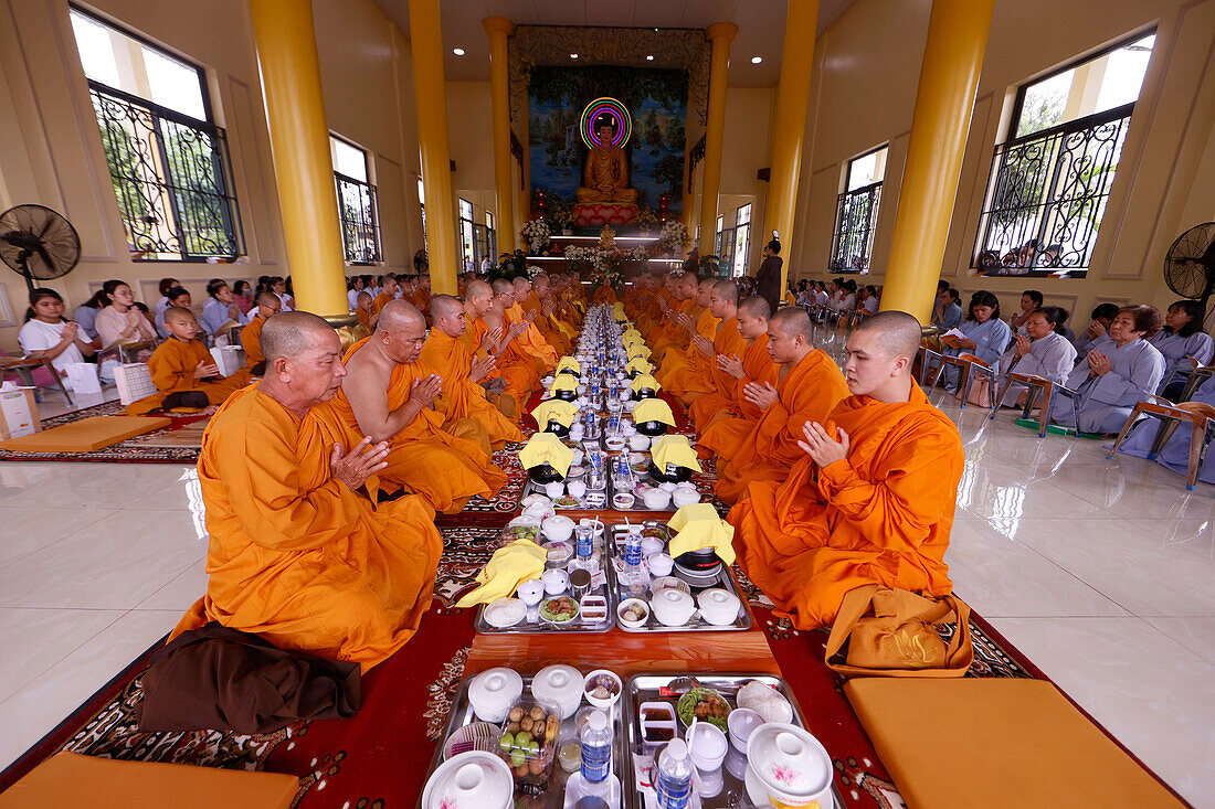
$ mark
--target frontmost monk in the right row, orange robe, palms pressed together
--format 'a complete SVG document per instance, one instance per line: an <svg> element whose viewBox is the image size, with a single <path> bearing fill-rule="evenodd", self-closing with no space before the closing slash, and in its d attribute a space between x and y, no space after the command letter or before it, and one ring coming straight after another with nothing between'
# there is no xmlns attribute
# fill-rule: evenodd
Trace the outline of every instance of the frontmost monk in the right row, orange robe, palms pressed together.
<svg viewBox="0 0 1215 809"><path fill-rule="evenodd" d="M739 564L799 629L835 621L864 584L946 595L962 442L911 379L920 323L881 312L848 336L852 396L802 425L785 481L734 507Z"/></svg>

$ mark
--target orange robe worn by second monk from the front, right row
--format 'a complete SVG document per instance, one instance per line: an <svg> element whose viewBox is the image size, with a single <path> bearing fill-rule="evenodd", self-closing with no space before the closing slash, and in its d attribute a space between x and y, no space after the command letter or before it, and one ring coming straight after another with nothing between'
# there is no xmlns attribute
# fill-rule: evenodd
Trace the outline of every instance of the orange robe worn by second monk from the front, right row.
<svg viewBox="0 0 1215 809"><path fill-rule="evenodd" d="M734 504L746 497L747 483L757 480L785 480L789 469L801 460L797 442L804 437L807 422L824 424L827 414L848 395L840 366L818 349L789 369L776 385L776 401L764 411L736 446L699 445L728 463L718 464L717 496Z"/></svg>

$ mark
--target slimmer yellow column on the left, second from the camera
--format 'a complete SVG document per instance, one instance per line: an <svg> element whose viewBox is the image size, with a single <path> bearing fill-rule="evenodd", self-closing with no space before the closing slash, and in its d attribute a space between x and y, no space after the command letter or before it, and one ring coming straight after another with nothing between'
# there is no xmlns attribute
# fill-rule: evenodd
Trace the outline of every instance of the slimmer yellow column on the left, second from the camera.
<svg viewBox="0 0 1215 809"><path fill-rule="evenodd" d="M413 94L418 103L418 147L426 188L426 258L434 294L459 292L456 250L456 202L452 199L451 149L447 146L447 85L443 83L443 32L439 0L409 1L409 50Z"/></svg>

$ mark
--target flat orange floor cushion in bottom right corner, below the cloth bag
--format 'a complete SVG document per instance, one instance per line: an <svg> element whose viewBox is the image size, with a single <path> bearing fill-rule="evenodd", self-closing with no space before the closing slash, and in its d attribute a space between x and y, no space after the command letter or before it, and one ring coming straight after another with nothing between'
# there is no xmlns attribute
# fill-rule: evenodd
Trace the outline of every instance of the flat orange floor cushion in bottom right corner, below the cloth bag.
<svg viewBox="0 0 1215 809"><path fill-rule="evenodd" d="M1183 807L1045 680L843 686L908 809Z"/></svg>

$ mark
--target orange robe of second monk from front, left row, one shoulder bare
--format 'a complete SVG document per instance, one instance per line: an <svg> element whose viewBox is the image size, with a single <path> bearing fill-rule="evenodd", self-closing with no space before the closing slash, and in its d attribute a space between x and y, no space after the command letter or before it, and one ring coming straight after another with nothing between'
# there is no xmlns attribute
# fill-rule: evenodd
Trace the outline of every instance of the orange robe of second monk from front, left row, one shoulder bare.
<svg viewBox="0 0 1215 809"><path fill-rule="evenodd" d="M343 362L366 345L367 339L350 346ZM420 362L397 363L388 385L388 409L395 411L409 398L414 379L425 379L430 370ZM358 420L345 391L329 402L321 402L309 413L322 437L333 446L352 447L363 439ZM505 473L490 458L488 437L484 428L470 420L443 423L443 415L424 407L400 432L389 440L388 466L367 479L367 491L374 498L379 491L406 490L422 494L437 511L458 511L473 494L492 497L507 481Z"/></svg>

